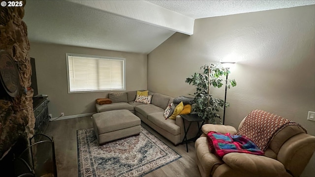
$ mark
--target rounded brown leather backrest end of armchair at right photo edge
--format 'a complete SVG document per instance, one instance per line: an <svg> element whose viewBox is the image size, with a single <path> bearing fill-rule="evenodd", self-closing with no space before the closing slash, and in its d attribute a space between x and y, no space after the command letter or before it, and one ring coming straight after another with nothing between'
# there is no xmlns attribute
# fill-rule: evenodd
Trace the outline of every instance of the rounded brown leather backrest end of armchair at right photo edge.
<svg viewBox="0 0 315 177"><path fill-rule="evenodd" d="M278 152L278 160L294 177L299 177L315 151L315 137L300 133L288 139Z"/></svg>

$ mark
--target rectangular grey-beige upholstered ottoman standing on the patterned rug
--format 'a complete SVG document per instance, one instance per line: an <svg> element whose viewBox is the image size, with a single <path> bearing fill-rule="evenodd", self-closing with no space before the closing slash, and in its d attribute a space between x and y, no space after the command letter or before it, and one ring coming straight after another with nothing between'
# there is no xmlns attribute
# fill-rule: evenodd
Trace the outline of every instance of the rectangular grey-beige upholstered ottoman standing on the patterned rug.
<svg viewBox="0 0 315 177"><path fill-rule="evenodd" d="M92 121L98 144L137 135L141 131L140 118L128 110L96 113Z"/></svg>

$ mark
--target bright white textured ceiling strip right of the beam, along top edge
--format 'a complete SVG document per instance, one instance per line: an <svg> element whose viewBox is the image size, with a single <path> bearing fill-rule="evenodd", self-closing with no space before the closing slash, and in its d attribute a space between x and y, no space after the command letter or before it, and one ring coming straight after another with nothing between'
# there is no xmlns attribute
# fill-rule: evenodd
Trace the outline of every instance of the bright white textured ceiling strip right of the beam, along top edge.
<svg viewBox="0 0 315 177"><path fill-rule="evenodd" d="M148 0L194 19L315 4L315 0Z"/></svg>

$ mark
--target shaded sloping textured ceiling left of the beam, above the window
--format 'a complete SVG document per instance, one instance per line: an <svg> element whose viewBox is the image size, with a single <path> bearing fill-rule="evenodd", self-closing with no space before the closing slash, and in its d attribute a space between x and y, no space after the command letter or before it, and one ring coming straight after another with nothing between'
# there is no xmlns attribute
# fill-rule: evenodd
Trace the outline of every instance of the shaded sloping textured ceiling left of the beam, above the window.
<svg viewBox="0 0 315 177"><path fill-rule="evenodd" d="M27 1L30 41L148 53L174 31L61 0Z"/></svg>

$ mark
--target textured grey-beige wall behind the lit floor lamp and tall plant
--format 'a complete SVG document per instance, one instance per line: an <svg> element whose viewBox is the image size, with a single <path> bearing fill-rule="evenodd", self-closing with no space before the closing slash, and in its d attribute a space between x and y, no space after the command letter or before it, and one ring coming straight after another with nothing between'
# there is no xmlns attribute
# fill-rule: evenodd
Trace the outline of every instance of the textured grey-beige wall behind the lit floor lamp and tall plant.
<svg viewBox="0 0 315 177"><path fill-rule="evenodd" d="M315 5L195 20L191 36L175 33L148 55L148 89L193 93L185 83L200 66L236 61L225 124L237 127L254 109L302 124L315 135ZM224 88L212 89L224 98ZM222 112L221 112L222 116ZM303 176L315 176L315 155Z"/></svg>

